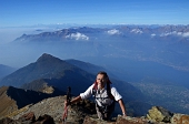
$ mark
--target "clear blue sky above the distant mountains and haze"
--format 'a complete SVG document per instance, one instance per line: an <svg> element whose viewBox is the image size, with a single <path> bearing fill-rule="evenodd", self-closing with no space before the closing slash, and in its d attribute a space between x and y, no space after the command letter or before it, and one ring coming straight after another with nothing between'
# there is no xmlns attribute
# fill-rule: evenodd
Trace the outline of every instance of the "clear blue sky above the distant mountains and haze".
<svg viewBox="0 0 189 124"><path fill-rule="evenodd" d="M189 0L0 0L0 27L189 24Z"/></svg>

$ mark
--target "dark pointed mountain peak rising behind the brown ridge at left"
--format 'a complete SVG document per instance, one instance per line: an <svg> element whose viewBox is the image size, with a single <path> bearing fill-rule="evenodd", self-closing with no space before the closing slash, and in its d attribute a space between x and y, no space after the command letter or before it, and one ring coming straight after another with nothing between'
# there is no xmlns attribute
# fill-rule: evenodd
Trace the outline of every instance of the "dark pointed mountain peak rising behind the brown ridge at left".
<svg viewBox="0 0 189 124"><path fill-rule="evenodd" d="M76 70L76 71L73 71ZM64 76L67 72L81 72L84 76L84 71L73 66L66 61L54 58L50 54L42 54L37 62L30 63L23 66L12 74L1 80L1 85L21 86L24 83L29 83L37 79L60 79ZM87 73L86 73L87 74ZM20 78L19 78L20 76ZM11 78L11 79L10 79Z"/></svg>

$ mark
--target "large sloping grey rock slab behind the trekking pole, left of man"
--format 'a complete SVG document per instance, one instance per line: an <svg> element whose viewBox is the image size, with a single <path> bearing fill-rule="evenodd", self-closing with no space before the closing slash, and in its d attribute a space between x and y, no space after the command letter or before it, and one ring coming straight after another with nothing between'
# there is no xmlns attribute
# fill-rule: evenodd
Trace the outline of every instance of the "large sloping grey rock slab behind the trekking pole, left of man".
<svg viewBox="0 0 189 124"><path fill-rule="evenodd" d="M60 122L62 122L64 101L66 96L46 99L37 104L26 106L22 110L9 114L7 115L7 117L19 120L24 114L32 112L34 113L36 118L39 118L42 115L49 115L53 118L56 124L59 124ZM84 100L68 107L67 122L81 124L87 115L92 117L97 116L94 103Z"/></svg>

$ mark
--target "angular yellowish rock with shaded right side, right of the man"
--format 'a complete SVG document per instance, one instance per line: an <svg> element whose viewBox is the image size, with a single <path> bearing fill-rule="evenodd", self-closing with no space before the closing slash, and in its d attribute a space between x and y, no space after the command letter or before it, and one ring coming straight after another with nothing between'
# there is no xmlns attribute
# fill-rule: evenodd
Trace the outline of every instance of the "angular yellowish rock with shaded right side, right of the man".
<svg viewBox="0 0 189 124"><path fill-rule="evenodd" d="M152 108L148 112L149 114L147 114L147 117L152 122L170 123L170 118L173 116L173 113L167 111L161 106L152 106Z"/></svg>

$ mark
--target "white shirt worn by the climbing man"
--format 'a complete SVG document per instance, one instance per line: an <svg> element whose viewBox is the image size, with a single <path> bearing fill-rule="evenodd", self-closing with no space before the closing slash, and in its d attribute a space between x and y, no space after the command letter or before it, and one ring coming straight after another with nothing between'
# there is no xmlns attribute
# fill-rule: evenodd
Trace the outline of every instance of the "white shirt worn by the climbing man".
<svg viewBox="0 0 189 124"><path fill-rule="evenodd" d="M92 94L93 86L94 86L94 84L89 86L86 92L80 94L82 100L88 99L91 95L93 95ZM118 91L116 90L115 86L110 85L110 87L111 87L111 94L113 95L116 101L122 99L122 96L118 93ZM107 85L102 90L97 90L96 102L99 106L102 106L102 104L110 105L112 103L112 100L110 97L109 99L105 99L105 97L108 97Z"/></svg>

